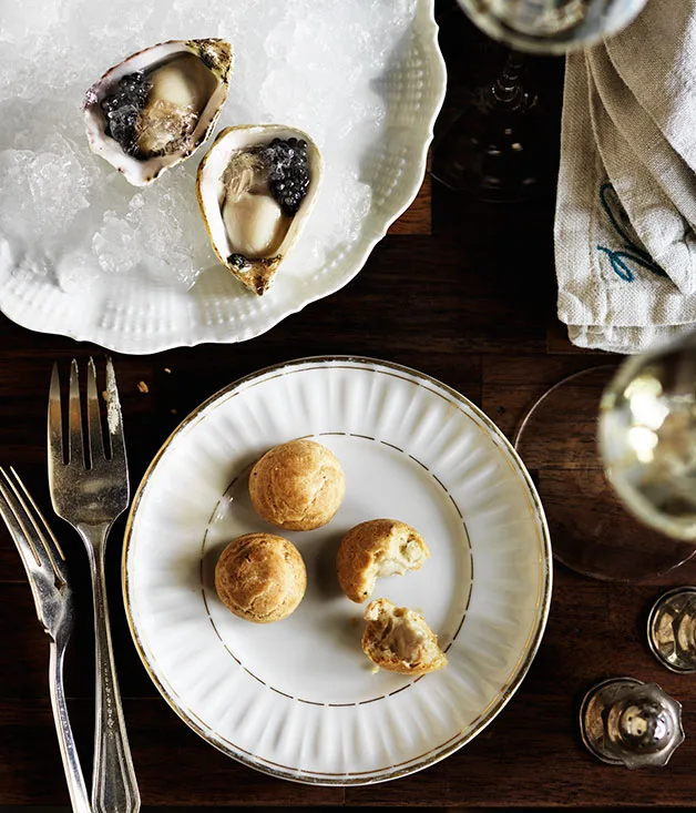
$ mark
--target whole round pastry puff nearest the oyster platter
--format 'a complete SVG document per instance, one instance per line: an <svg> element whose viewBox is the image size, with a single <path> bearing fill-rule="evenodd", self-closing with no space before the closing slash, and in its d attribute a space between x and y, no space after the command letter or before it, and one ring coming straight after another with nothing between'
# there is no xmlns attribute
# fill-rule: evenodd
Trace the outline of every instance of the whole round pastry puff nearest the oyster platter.
<svg viewBox="0 0 696 813"><path fill-rule="evenodd" d="M263 519L285 530L313 530L340 508L346 477L336 456L315 440L274 446L252 469L249 496Z"/></svg>

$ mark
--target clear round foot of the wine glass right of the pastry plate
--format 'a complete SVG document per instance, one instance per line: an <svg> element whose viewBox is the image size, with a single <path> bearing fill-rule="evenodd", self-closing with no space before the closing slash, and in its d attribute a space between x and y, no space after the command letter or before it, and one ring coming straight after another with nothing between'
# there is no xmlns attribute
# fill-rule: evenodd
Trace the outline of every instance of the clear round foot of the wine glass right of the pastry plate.
<svg viewBox="0 0 696 813"><path fill-rule="evenodd" d="M616 368L583 370L549 389L524 418L514 446L535 479L554 558L595 579L641 581L678 567L696 548L641 525L606 480L597 416Z"/></svg>

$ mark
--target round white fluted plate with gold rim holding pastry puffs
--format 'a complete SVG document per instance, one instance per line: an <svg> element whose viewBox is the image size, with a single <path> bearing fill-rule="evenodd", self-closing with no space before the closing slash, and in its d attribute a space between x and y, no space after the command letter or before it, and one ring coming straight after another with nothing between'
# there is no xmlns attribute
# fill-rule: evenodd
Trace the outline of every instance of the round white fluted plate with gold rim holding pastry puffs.
<svg viewBox="0 0 696 813"><path fill-rule="evenodd" d="M286 532L305 558L306 596L254 624L217 599L225 543L277 529L247 496L252 464L308 436L347 478L334 520ZM431 558L378 581L373 598L420 610L449 664L421 679L372 672L364 606L342 596L342 535L390 517ZM237 382L164 445L133 502L123 586L137 650L172 708L213 745L299 782L362 784L417 771L479 733L519 687L551 597L539 497L491 420L442 384L383 362L301 359Z"/></svg>

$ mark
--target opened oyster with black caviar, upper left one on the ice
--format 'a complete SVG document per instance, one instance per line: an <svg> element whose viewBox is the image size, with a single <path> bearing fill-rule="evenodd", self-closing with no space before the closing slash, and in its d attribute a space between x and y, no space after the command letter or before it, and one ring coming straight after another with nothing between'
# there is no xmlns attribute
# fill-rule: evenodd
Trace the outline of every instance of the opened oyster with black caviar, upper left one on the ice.
<svg viewBox="0 0 696 813"><path fill-rule="evenodd" d="M152 183L207 139L231 73L225 40L172 40L134 53L86 92L92 151L135 186Z"/></svg>

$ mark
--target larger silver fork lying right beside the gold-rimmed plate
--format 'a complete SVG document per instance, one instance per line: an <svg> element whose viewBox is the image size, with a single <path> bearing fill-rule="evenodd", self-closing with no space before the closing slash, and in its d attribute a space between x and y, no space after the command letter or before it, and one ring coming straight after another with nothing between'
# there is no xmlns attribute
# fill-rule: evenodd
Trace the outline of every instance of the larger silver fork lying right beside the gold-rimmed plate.
<svg viewBox="0 0 696 813"><path fill-rule="evenodd" d="M88 364L86 413L89 443L85 458L78 363L73 359L70 368L68 456L64 458L60 379L58 366L54 365L49 396L51 500L58 516L70 522L84 541L94 598L96 711L92 807L94 813L136 813L140 809L140 793L121 708L104 579L106 537L114 520L129 504L123 420L111 359L106 360L109 456L102 438L96 370L91 358Z"/></svg>

